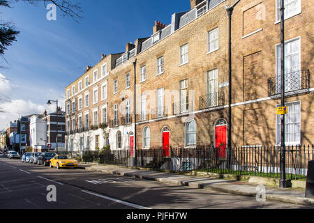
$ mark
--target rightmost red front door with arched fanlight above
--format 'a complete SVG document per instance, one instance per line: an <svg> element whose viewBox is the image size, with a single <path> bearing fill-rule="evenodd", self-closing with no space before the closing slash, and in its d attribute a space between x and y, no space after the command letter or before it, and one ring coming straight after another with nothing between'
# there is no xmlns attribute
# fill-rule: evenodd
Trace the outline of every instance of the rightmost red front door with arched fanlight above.
<svg viewBox="0 0 314 223"><path fill-rule="evenodd" d="M218 157L226 157L227 121L223 118L215 123L215 146L218 150Z"/></svg>

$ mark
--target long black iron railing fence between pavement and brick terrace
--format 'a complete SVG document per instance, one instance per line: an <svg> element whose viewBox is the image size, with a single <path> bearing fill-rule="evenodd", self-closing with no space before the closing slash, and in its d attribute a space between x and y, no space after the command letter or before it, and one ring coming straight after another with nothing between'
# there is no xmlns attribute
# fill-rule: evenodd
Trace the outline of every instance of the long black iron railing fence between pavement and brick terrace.
<svg viewBox="0 0 314 223"><path fill-rule="evenodd" d="M237 176L281 178L280 146L241 146L230 151L227 146L195 146L195 148L151 148L116 151L86 151L84 162L144 167L173 172L205 171ZM314 145L287 146L286 178L306 180L308 162L314 160Z"/></svg>

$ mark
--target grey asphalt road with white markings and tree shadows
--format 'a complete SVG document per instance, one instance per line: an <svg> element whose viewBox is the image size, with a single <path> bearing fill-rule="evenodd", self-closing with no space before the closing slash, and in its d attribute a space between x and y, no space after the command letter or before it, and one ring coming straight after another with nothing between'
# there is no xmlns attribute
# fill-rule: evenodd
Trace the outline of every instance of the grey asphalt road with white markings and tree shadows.
<svg viewBox="0 0 314 223"><path fill-rule="evenodd" d="M56 200L47 201L54 185ZM0 157L0 209L299 209L253 197Z"/></svg>

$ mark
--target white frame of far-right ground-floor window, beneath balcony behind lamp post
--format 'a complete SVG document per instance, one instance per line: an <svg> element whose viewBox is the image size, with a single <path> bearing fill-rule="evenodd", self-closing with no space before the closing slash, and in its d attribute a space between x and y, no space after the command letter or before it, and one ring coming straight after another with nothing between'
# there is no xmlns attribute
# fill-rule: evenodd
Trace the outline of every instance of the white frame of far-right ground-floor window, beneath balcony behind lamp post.
<svg viewBox="0 0 314 223"><path fill-rule="evenodd" d="M285 103L285 106L288 107L288 113L285 114L285 125L287 124L291 124L291 123L287 123L287 121L289 120L289 114L290 114L290 105L293 105L293 104L299 104L299 121L295 121L294 122L294 125L297 125L297 123L299 123L299 141L287 141L287 137L285 137L285 145L286 146L298 146L298 145L301 145L301 101L298 100L298 101L295 101L295 102L288 102L288 103ZM281 107L281 105L276 105L276 110L278 107ZM295 118L295 117L294 117ZM287 127L285 127L285 134L287 136ZM276 144L277 145L280 145L281 144L281 115L277 115L276 114Z"/></svg>

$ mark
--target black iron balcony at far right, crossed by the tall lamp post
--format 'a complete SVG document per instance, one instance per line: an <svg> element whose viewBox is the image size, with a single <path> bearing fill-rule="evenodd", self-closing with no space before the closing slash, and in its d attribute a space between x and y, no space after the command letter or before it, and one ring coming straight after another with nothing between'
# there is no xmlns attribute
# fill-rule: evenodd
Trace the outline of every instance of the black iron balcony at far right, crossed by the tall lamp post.
<svg viewBox="0 0 314 223"><path fill-rule="evenodd" d="M285 74L285 93L310 89L311 73L310 70L297 70ZM281 76L268 79L268 95L274 96L281 94Z"/></svg>

